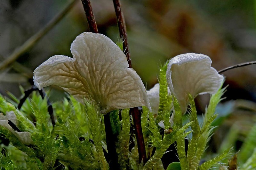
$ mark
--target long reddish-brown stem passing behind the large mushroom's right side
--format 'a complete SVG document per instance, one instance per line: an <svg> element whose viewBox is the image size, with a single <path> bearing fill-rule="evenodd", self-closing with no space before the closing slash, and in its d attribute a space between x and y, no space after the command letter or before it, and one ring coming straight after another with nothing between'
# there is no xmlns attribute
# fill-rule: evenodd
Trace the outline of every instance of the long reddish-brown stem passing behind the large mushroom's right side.
<svg viewBox="0 0 256 170"><path fill-rule="evenodd" d="M124 16L121 10L121 3L119 0L113 0L115 11L116 11L116 20L118 24L119 34L121 39L124 41L123 44L123 51L126 53L127 62L129 64L129 68L132 68L132 62L130 60L130 51L127 41L127 32L126 32L126 26L124 21ZM143 160L143 163L145 164L147 161L146 157L146 148L141 128L141 120L140 120L140 112L138 110L138 107L131 108L130 114L132 114L134 129L135 129L135 135L137 139L137 145L138 145L138 152L139 152L139 162Z"/></svg>

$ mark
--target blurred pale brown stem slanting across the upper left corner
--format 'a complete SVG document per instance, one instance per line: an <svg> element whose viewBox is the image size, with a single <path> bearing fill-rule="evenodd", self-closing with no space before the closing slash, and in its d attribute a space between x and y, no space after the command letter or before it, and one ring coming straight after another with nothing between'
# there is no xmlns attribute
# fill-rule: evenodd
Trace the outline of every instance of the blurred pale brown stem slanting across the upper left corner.
<svg viewBox="0 0 256 170"><path fill-rule="evenodd" d="M20 57L21 54L25 53L29 48L36 45L36 42L39 41L47 32L49 32L66 14L68 11L74 6L77 0L71 1L68 6L57 14L52 20L45 25L40 31L38 31L35 35L29 38L22 46L17 48L8 58L0 63L0 70L11 65L17 58Z"/></svg>

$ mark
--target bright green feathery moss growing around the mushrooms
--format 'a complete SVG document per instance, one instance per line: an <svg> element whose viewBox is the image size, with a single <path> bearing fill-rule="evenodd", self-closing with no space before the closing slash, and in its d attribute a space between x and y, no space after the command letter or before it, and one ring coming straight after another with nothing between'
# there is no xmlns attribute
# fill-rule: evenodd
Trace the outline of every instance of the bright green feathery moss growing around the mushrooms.
<svg viewBox="0 0 256 170"><path fill-rule="evenodd" d="M165 65L166 66L166 65ZM230 155L231 150L225 150L218 156L207 160L199 166L203 157L207 142L209 141L213 126L212 122L217 117L215 108L221 100L224 89L220 89L211 96L209 106L206 110L202 124L199 124L194 99L189 95L190 109L189 122L183 125L182 113L175 96L168 96L167 84L164 81L164 69L162 67L159 75L160 83L160 106L158 118L155 119L153 113L143 107L141 124L143 137L146 146L148 161L143 163L138 161L138 148L135 135L130 134L130 114L129 109L116 110L110 114L111 128L117 136L116 151L118 163L122 169L152 169L162 167L161 158L167 148L177 141L176 148L180 159L181 169L210 169L219 167L220 163ZM170 97L170 98L169 98ZM13 98L13 96L12 96ZM10 140L8 146L1 149L1 168L4 169L55 169L57 166L71 169L108 169L108 162L105 158L106 137L102 114L89 101L81 104L70 96L60 102L53 103L54 117L56 124L52 125L51 117L48 113L47 101L33 92L30 99L27 99L20 110L16 109L17 102L8 102L0 96L0 110L5 115L6 112L13 111L18 119L17 126L21 131L28 131L34 142L33 145L24 145L20 140L4 127L0 127L1 134ZM16 102L16 103L15 103ZM173 110L171 110L173 107ZM120 121L120 114L122 120ZM172 117L170 118L170 115ZM159 121L164 122L164 133L158 125ZM191 130L190 130L191 128ZM255 128L248 136L247 142L242 147L243 155L248 155L246 161L241 166L242 169L254 167L255 150L247 153L249 149L255 148L253 134ZM189 140L188 153L185 152L184 138L192 134ZM131 141L134 143L130 147ZM129 148L130 147L130 148ZM152 150L155 148L154 154ZM5 155L3 154L5 150ZM14 156L15 155L15 156Z"/></svg>

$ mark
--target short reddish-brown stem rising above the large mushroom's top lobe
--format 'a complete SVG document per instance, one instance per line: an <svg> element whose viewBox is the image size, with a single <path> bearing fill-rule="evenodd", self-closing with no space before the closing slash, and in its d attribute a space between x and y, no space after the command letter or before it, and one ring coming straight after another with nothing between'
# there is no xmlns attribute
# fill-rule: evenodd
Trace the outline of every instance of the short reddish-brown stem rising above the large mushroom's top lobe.
<svg viewBox="0 0 256 170"><path fill-rule="evenodd" d="M89 25L89 30L93 33L98 33L98 28L97 28L96 21L94 19L94 15L92 12L92 5L91 5L90 0L82 0L82 4L84 7L86 19L87 19L87 22Z"/></svg>

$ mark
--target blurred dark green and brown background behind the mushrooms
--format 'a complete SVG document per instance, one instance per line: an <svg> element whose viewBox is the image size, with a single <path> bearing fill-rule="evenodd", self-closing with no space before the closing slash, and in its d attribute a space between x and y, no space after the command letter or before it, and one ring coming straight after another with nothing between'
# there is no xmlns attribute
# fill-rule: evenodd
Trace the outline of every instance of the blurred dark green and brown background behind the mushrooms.
<svg viewBox="0 0 256 170"><path fill-rule="evenodd" d="M71 0L0 0L0 62L43 28ZM119 36L111 0L92 0L99 32L114 42ZM147 89L157 83L159 66L182 53L202 53L212 59L217 70L256 60L256 1L253 0L122 0L128 31L132 67ZM33 70L53 55L67 55L70 44L88 25L81 1L42 39L0 70L0 93L21 96L33 83ZM229 70L224 86L225 99L219 106L221 120L213 138L212 150L236 126L237 148L243 142L256 113L256 65ZM63 92L52 88L52 100ZM209 95L196 98L198 114L209 103ZM221 116L220 116L221 117ZM217 151L216 151L217 152Z"/></svg>

